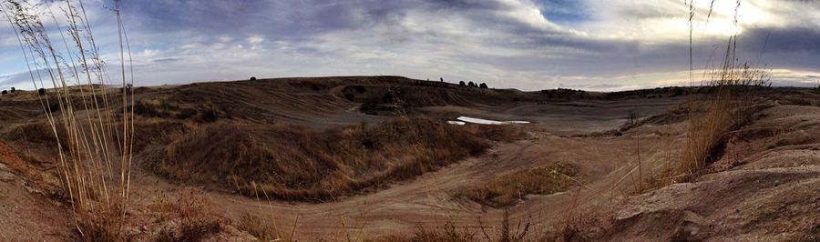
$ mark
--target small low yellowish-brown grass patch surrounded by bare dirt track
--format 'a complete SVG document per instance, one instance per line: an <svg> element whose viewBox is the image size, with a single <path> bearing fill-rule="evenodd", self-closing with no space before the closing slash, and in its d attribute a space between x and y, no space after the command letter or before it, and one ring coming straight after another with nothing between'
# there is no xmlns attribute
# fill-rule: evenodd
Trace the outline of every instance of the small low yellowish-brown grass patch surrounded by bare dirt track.
<svg viewBox="0 0 820 242"><path fill-rule="evenodd" d="M529 194L565 191L573 184L572 177L578 175L578 167L559 163L498 176L484 185L467 189L460 196L489 207L509 207Z"/></svg>

